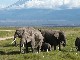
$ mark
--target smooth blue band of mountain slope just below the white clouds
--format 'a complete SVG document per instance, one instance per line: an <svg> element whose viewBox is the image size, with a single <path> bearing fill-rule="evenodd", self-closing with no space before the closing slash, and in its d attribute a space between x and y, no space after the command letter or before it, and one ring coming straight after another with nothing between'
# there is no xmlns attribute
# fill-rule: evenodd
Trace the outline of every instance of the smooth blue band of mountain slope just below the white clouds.
<svg viewBox="0 0 80 60"><path fill-rule="evenodd" d="M79 20L80 9L15 9L0 11L0 19L15 20Z"/></svg>

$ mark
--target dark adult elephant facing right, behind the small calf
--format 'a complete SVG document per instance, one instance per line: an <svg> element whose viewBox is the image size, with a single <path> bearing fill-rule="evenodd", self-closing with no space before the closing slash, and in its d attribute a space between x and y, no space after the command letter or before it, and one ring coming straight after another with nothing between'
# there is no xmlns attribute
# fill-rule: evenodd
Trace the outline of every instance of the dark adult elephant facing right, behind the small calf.
<svg viewBox="0 0 80 60"><path fill-rule="evenodd" d="M61 50L61 44L65 47L66 46L66 39L65 35L62 31L53 31L53 30L41 30L39 31L42 33L44 37L44 42L49 43L51 48L56 50L56 46L59 45L59 50Z"/></svg>

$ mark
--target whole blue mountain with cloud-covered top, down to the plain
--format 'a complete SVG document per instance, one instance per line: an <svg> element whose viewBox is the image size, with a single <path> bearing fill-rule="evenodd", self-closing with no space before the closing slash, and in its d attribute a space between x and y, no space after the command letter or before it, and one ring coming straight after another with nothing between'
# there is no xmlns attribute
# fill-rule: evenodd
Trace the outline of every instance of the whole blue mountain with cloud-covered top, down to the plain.
<svg viewBox="0 0 80 60"><path fill-rule="evenodd" d="M74 0L19 0L0 10L0 26L79 25L80 6L74 2Z"/></svg>

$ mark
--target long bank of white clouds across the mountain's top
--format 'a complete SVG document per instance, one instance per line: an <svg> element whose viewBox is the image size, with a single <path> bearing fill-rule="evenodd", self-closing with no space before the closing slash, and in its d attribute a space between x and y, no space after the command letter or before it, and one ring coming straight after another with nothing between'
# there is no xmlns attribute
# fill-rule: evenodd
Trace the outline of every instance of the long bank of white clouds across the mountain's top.
<svg viewBox="0 0 80 60"><path fill-rule="evenodd" d="M59 8L65 6L69 9L80 8L80 0L30 0L23 4L28 8Z"/></svg>

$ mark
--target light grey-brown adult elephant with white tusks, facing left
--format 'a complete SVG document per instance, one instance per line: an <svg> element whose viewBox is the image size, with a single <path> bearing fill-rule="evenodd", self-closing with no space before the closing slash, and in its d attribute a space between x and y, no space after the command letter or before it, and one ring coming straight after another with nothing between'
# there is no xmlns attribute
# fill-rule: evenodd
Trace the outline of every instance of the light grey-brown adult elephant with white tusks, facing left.
<svg viewBox="0 0 80 60"><path fill-rule="evenodd" d="M21 47L25 47L26 50L24 48L24 52L28 52L28 44L31 46L32 52L35 51L35 48L38 49L38 52L40 51L43 42L43 36L40 31L33 27L19 28L14 34L15 44L16 37L20 38L20 52L23 51Z"/></svg>

